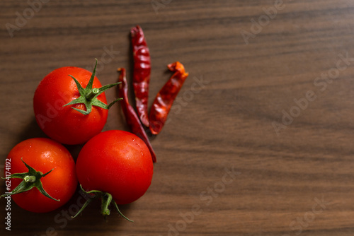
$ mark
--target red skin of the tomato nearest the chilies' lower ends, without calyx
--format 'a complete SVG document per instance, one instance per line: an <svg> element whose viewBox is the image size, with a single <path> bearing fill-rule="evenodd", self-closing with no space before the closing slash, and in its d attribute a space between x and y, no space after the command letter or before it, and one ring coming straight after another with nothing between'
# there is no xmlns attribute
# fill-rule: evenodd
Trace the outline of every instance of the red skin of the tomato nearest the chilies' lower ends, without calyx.
<svg viewBox="0 0 354 236"><path fill-rule="evenodd" d="M108 192L118 204L131 203L144 195L152 182L153 167L144 141L118 130L91 138L76 160L82 187L86 191Z"/></svg>

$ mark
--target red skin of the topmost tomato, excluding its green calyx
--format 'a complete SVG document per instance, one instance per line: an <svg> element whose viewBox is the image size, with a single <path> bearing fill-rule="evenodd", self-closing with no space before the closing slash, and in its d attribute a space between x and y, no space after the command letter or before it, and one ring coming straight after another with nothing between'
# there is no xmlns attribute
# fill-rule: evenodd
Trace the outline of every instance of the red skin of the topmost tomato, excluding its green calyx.
<svg viewBox="0 0 354 236"><path fill-rule="evenodd" d="M42 131L50 138L65 144L80 144L100 133L107 121L108 110L92 107L90 114L81 114L72 109L86 110L83 104L66 105L80 97L74 76L83 88L91 78L91 72L79 67L55 69L42 79L35 90L33 108L35 119ZM93 80L93 88L102 87L98 78ZM98 100L107 104L105 94L98 95Z"/></svg>

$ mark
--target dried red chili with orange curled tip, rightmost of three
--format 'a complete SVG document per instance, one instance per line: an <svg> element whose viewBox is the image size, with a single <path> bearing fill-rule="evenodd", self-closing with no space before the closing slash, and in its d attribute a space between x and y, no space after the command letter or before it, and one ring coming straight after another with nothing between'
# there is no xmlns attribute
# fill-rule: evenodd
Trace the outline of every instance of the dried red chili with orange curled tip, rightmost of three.
<svg viewBox="0 0 354 236"><path fill-rule="evenodd" d="M185 78L188 77L188 73L185 72L183 64L179 61L169 64L167 67L170 71L175 73L173 73L173 76L171 76L164 87L161 88L152 104L152 109L149 114L149 128L152 134L159 134L161 131L166 122L167 115L171 110L172 103L179 90L181 90Z"/></svg>

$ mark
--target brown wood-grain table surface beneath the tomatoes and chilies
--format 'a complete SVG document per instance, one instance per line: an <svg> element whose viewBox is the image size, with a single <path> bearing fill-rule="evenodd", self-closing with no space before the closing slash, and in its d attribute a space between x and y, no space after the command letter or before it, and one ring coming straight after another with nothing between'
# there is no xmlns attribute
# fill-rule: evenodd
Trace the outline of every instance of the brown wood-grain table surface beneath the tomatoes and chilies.
<svg viewBox="0 0 354 236"><path fill-rule="evenodd" d="M98 203L71 220L75 194L50 213L12 202L8 231L1 199L0 235L354 234L354 1L29 2L0 1L1 164L45 136L32 99L50 71L92 70L98 58L103 84L118 67L131 81L135 25L152 57L149 106L167 64L181 61L189 77L151 137L151 187L121 206L135 223L115 211L105 222ZM120 105L110 129L128 130ZM80 146L67 148L76 158Z"/></svg>

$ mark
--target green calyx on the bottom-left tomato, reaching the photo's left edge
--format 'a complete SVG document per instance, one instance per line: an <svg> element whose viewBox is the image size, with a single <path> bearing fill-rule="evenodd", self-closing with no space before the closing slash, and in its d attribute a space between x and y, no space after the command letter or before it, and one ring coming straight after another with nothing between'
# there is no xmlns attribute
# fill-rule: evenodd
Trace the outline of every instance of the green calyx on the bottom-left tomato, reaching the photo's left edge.
<svg viewBox="0 0 354 236"><path fill-rule="evenodd" d="M21 158L21 160L22 160L22 158ZM40 191L40 193L43 194L44 196L47 196L47 198L50 198L55 201L60 201L59 199L55 199L52 196L50 196L45 191L45 189L43 189L42 182L40 181L40 179L42 177L45 177L50 172L52 172L52 170L54 170L54 169L43 174L42 172L36 171L35 169L33 169L33 167L30 167L30 165L27 165L23 160L22 160L22 162L28 168L28 172L15 173L15 174L12 174L6 178L3 177L3 179L19 178L19 179L23 179L23 181L20 184L18 184L18 186L15 189L13 189L10 193L3 194L0 196L0 198L3 196L13 195L13 194L21 194L24 191L29 191L30 189L33 189L33 187L36 187L38 189L38 191Z"/></svg>

